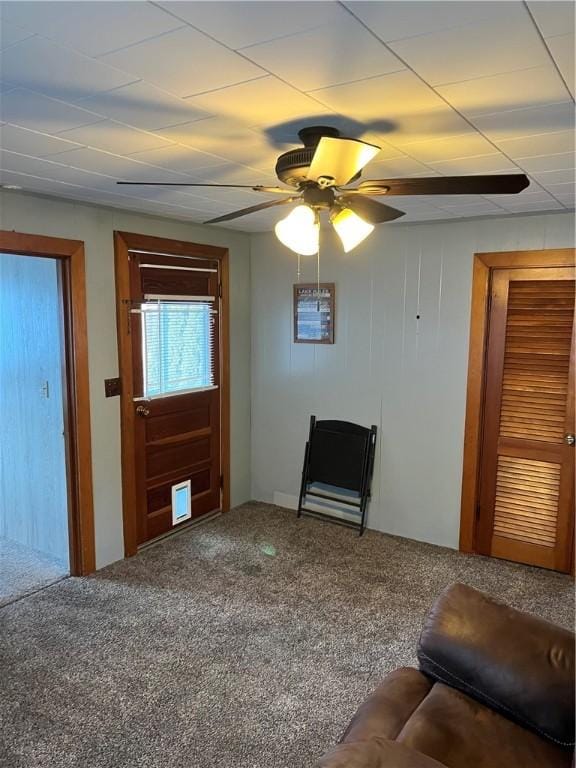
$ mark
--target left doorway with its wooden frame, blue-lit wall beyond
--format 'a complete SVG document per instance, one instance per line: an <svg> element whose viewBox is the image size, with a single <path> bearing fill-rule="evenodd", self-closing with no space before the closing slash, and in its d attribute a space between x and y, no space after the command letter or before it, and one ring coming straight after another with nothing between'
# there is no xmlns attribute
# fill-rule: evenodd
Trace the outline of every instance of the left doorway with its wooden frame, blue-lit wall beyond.
<svg viewBox="0 0 576 768"><path fill-rule="evenodd" d="M94 570L77 241L0 232L0 604Z"/></svg>

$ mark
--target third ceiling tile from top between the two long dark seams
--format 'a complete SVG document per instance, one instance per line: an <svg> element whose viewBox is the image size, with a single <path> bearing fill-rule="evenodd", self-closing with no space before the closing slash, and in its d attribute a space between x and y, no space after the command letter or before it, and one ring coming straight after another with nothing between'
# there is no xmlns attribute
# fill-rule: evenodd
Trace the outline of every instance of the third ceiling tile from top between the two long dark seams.
<svg viewBox="0 0 576 768"><path fill-rule="evenodd" d="M551 62L543 67L440 85L436 90L468 117L538 107L569 98L562 78Z"/></svg>

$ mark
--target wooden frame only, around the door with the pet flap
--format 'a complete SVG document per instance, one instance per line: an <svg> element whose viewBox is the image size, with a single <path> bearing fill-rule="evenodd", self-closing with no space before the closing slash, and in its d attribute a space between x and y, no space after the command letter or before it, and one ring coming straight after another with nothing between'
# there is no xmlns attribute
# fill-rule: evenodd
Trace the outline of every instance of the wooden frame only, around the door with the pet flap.
<svg viewBox="0 0 576 768"><path fill-rule="evenodd" d="M227 248L164 237L114 232L116 264L116 322L118 330L118 362L121 379L122 429L122 517L124 523L124 555L132 557L138 551L136 451L134 441L134 377L132 366L132 337L128 331L130 308L130 250L152 254L192 256L216 259L220 262L222 285L220 317L220 453L223 475L222 512L230 509L230 306L229 253Z"/></svg>

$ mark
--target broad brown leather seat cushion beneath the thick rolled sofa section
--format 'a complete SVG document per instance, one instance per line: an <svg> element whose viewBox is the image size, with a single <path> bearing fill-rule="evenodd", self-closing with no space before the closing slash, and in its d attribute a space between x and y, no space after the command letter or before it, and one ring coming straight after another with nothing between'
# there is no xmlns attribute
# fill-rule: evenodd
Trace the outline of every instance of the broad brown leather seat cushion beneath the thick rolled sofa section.
<svg viewBox="0 0 576 768"><path fill-rule="evenodd" d="M572 760L571 752L442 683L412 713L398 741L448 768L570 768Z"/></svg>

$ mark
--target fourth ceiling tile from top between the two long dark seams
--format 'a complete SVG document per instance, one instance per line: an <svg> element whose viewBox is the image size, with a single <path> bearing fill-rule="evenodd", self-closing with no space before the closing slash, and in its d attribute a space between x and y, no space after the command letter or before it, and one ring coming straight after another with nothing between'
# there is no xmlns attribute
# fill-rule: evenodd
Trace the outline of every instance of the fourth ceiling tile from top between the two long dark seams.
<svg viewBox="0 0 576 768"><path fill-rule="evenodd" d="M542 133L574 130L574 104L565 101L545 107L516 109L472 118L491 141L505 141Z"/></svg>

